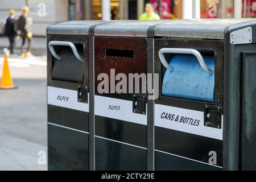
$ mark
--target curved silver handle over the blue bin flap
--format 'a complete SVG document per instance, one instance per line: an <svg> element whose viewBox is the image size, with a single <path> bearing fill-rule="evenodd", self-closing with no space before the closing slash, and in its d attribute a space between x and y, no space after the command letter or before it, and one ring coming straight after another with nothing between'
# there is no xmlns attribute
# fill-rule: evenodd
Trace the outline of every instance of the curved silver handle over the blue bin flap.
<svg viewBox="0 0 256 182"><path fill-rule="evenodd" d="M164 53L182 53L182 54L189 54L196 56L197 60L199 61L201 67L204 69L205 72L209 73L209 75L213 74L213 70L210 69L207 64L205 64L204 58L199 51L196 49L187 49L187 48L162 48L159 51L159 58L164 67L169 69L171 72L174 71L174 67L171 67L166 59L164 58Z"/></svg>

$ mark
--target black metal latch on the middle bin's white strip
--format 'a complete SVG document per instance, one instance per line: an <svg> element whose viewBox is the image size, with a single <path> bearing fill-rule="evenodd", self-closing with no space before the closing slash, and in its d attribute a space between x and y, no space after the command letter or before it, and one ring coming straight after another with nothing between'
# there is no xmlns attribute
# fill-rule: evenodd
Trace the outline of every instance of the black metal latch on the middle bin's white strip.
<svg viewBox="0 0 256 182"><path fill-rule="evenodd" d="M141 94L133 95L133 113L146 115L147 96Z"/></svg>

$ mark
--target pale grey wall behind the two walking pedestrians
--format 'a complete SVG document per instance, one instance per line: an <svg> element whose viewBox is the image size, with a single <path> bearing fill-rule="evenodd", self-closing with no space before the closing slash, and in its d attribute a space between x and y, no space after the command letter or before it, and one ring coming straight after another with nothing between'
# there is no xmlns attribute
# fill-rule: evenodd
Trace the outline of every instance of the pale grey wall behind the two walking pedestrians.
<svg viewBox="0 0 256 182"><path fill-rule="evenodd" d="M1 0L0 24L9 15L10 9L16 11L16 19L18 19L24 5L30 7L35 36L46 36L48 24L68 20L68 0Z"/></svg>

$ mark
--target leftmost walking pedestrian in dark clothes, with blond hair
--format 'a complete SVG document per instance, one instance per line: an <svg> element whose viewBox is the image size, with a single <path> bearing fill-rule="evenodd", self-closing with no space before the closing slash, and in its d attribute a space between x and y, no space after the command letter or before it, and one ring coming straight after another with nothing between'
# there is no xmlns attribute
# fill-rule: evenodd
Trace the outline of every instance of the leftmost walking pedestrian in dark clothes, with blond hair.
<svg viewBox="0 0 256 182"><path fill-rule="evenodd" d="M10 10L10 16L6 19L5 23L5 35L8 37L10 46L9 50L10 53L13 54L13 48L15 44L15 36L16 36L16 31L15 31L15 10Z"/></svg>

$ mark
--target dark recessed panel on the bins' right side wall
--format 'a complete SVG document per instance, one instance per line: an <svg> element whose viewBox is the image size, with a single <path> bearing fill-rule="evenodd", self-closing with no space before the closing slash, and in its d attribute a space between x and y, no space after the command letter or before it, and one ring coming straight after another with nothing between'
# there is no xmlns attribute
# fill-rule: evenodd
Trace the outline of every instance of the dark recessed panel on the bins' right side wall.
<svg viewBox="0 0 256 182"><path fill-rule="evenodd" d="M256 170L256 52L242 61L242 170Z"/></svg>

